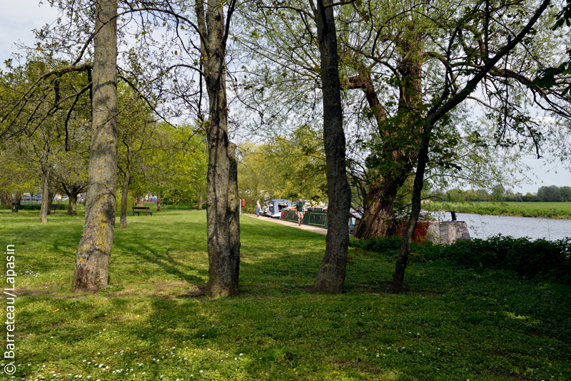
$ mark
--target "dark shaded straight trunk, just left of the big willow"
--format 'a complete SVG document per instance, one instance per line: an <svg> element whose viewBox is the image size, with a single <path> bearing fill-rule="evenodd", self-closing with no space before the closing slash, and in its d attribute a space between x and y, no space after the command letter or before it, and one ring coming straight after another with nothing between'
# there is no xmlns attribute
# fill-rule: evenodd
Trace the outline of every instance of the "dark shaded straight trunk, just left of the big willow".
<svg viewBox="0 0 571 381"><path fill-rule="evenodd" d="M313 285L313 292L337 294L343 293L345 282L351 190L345 168L345 132L333 1L318 0L315 17L323 84L323 145L327 163L329 206L325 255Z"/></svg>

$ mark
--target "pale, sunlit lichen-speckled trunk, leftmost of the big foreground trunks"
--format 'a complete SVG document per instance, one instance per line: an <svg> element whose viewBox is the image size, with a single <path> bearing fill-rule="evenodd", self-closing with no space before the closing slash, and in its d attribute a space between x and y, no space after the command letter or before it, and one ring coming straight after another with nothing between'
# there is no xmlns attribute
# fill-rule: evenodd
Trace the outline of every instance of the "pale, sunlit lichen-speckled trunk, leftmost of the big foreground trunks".
<svg viewBox="0 0 571 381"><path fill-rule="evenodd" d="M84 234L76 253L73 285L96 291L108 284L117 188L117 1L96 1L93 136L89 156Z"/></svg>

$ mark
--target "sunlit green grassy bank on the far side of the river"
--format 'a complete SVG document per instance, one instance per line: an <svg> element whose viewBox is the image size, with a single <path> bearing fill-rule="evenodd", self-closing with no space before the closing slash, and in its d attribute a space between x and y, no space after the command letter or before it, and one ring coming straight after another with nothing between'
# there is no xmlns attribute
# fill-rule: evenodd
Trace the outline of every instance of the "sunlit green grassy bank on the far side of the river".
<svg viewBox="0 0 571 381"><path fill-rule="evenodd" d="M517 217L540 217L571 219L571 203L423 203L430 212L473 213L482 215L515 215Z"/></svg>

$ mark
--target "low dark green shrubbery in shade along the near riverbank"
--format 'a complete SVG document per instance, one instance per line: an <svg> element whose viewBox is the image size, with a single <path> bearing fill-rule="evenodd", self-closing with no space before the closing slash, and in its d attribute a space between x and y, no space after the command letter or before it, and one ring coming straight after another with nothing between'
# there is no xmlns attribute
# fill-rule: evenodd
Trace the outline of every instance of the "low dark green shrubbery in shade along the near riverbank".
<svg viewBox="0 0 571 381"><path fill-rule="evenodd" d="M400 237L351 238L350 245L397 255ZM410 251L420 253L425 260L452 260L464 268L502 270L526 278L539 276L555 283L571 283L571 238L549 241L495 235L487 240L457 240L450 245L413 243Z"/></svg>

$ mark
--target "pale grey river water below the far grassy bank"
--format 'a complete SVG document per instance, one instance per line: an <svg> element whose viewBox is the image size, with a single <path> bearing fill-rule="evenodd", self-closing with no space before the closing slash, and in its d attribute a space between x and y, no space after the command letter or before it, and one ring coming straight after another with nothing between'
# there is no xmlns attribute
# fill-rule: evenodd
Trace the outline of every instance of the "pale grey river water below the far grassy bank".
<svg viewBox="0 0 571 381"><path fill-rule="evenodd" d="M450 213L432 212L437 220L451 220ZM485 239L492 235L511 235L513 238L529 237L560 240L571 237L571 220L550 218L510 217L505 215L477 215L456 213L458 221L465 221L470 237Z"/></svg>

